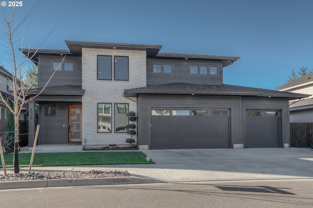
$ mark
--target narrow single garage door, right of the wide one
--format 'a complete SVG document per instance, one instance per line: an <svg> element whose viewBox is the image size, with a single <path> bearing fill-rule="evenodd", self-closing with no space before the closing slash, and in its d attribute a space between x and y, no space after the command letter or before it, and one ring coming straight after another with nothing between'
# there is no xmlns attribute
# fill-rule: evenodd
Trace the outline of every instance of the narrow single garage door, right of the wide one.
<svg viewBox="0 0 313 208"><path fill-rule="evenodd" d="M246 110L246 148L279 148L279 111Z"/></svg>

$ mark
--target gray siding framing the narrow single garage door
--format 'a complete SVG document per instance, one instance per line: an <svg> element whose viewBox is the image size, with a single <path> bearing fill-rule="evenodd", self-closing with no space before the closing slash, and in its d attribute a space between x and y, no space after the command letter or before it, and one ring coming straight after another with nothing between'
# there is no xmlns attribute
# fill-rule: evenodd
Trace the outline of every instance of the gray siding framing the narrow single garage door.
<svg viewBox="0 0 313 208"><path fill-rule="evenodd" d="M243 97L241 102L242 119L241 123L245 124L246 109L258 110L280 110L281 111L281 137L282 147L284 143L290 143L290 124L289 124L289 100L288 98L256 98ZM242 143L245 144L245 125L242 125Z"/></svg>

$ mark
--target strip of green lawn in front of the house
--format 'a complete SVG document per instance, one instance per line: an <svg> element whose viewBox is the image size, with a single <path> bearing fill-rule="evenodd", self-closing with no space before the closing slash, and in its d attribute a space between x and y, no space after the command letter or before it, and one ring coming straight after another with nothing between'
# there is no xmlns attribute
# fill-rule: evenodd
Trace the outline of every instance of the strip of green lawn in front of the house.
<svg viewBox="0 0 313 208"><path fill-rule="evenodd" d="M141 151L35 153L33 166L153 164L146 161L146 156ZM31 153L19 153L20 167L29 167L30 157ZM4 154L4 161L5 167L12 168L13 154Z"/></svg>

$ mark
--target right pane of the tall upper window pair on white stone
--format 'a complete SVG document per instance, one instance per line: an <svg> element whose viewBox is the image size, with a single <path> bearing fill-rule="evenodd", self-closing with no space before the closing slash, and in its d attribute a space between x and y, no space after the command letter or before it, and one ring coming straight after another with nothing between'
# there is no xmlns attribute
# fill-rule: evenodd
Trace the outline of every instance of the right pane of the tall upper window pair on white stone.
<svg viewBox="0 0 313 208"><path fill-rule="evenodd" d="M114 57L114 80L128 80L128 57Z"/></svg>

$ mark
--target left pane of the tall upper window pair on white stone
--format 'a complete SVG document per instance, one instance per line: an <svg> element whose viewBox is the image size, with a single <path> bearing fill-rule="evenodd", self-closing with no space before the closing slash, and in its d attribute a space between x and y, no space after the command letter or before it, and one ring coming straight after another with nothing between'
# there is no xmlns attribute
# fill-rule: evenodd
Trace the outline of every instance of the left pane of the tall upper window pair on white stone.
<svg viewBox="0 0 313 208"><path fill-rule="evenodd" d="M98 79L111 80L112 79L112 57L98 56Z"/></svg>

